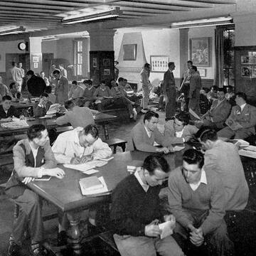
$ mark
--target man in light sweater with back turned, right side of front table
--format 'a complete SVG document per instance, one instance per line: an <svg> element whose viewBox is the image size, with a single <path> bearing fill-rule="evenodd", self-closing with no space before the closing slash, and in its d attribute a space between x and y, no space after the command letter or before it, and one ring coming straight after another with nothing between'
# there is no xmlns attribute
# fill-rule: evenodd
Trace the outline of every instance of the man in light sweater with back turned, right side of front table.
<svg viewBox="0 0 256 256"><path fill-rule="evenodd" d="M225 210L243 210L247 205L249 188L245 172L238 154L238 148L218 139L217 132L210 127L202 127L196 134L203 149L203 169L214 171L221 178L225 189Z"/></svg>

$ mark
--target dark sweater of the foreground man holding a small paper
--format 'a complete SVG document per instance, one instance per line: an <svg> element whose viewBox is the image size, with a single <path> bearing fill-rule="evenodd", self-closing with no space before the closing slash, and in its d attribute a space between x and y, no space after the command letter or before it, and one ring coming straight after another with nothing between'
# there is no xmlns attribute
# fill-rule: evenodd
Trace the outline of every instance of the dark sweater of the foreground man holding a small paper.
<svg viewBox="0 0 256 256"><path fill-rule="evenodd" d="M159 204L160 186L145 192L134 175L124 178L112 193L110 219L118 235L144 235L145 225L163 214Z"/></svg>

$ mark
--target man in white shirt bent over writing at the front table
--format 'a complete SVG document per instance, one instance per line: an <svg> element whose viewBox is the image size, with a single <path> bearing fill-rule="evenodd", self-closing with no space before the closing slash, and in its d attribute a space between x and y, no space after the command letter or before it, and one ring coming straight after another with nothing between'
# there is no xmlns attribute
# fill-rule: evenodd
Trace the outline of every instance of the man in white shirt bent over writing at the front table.
<svg viewBox="0 0 256 256"><path fill-rule="evenodd" d="M99 138L97 127L89 124L60 134L53 144L53 154L59 164L82 164L110 157L112 150Z"/></svg>

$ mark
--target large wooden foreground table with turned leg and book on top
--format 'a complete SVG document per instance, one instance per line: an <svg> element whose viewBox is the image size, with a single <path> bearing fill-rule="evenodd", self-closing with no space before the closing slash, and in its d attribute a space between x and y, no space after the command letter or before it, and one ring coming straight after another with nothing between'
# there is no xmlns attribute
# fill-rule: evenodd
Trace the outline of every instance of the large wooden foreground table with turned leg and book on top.
<svg viewBox="0 0 256 256"><path fill-rule="evenodd" d="M182 154L183 151L179 151L164 156L169 162L171 169L181 165ZM105 166L97 167L96 169L99 172L92 175L103 176L111 193L117 183L129 175L127 165L135 164L133 161L136 160L137 166L141 166L148 155L149 153L141 151L127 151L114 154L114 159L110 160ZM71 245L75 254L80 255L81 233L78 228L80 211L90 208L90 206L94 206L97 203L108 202L111 200L111 196L110 193L104 196L82 196L78 181L87 175L74 169L66 169L64 167L63 169L65 170L65 177L63 179L52 177L50 181L34 181L28 183L28 186L60 210L68 213L71 226Z"/></svg>

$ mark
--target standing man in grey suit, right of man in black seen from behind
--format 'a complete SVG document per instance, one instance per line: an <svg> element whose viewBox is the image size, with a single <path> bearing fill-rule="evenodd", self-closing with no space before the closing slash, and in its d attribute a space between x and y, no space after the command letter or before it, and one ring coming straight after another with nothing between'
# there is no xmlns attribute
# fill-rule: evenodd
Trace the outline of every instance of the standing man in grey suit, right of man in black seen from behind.
<svg viewBox="0 0 256 256"><path fill-rule="evenodd" d="M53 71L55 78L56 103L64 104L68 100L68 79L60 75L60 70Z"/></svg>

